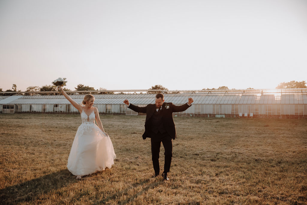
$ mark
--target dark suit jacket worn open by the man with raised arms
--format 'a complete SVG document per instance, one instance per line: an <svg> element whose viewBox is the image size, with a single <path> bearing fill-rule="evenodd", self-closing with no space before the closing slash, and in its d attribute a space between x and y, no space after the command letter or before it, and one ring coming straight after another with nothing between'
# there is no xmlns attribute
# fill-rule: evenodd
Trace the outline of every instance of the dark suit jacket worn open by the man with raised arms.
<svg viewBox="0 0 307 205"><path fill-rule="evenodd" d="M169 108L166 108L166 104L169 105ZM173 103L165 103L165 102L162 105L161 111L162 111L162 120L164 128L166 132L168 132L169 136L171 136L174 140L176 138L176 127L173 120L173 112L183 112L186 109L188 109L190 106L188 105L188 103L177 106L174 105ZM145 132L143 134L143 139L145 140L146 137L150 138L150 125L151 125L150 118L154 112L157 112L156 105L148 104L146 107L138 107L130 103L128 108L130 108L135 112L146 113Z"/></svg>

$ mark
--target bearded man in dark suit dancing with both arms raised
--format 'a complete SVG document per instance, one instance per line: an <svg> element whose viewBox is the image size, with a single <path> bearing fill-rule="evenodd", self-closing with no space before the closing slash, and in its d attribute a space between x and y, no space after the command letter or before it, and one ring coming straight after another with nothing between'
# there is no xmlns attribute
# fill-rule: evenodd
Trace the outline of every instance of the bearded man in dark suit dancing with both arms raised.
<svg viewBox="0 0 307 205"><path fill-rule="evenodd" d="M181 106L176 106L173 103L165 103L164 95L162 93L158 93L155 100L155 104L148 104L146 107L138 107L133 105L129 103L127 99L124 101L124 103L128 106L128 108L135 112L146 113L143 139L145 140L146 137L151 138L151 154L155 177L157 177L160 172L159 153L162 142L165 149L165 162L162 177L165 180L169 180L167 177L167 172L169 172L173 156L172 139L175 140L176 138L173 112L183 112L188 109L193 102L193 98L189 97L188 103Z"/></svg>

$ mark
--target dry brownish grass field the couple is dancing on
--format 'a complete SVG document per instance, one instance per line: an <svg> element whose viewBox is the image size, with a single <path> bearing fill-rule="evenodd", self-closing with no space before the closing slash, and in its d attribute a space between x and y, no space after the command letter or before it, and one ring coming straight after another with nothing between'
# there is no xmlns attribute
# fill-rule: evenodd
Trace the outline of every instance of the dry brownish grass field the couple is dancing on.
<svg viewBox="0 0 307 205"><path fill-rule="evenodd" d="M117 159L76 181L66 165L79 115L0 114L0 204L307 203L307 120L174 117L163 181L145 116L100 118Z"/></svg>

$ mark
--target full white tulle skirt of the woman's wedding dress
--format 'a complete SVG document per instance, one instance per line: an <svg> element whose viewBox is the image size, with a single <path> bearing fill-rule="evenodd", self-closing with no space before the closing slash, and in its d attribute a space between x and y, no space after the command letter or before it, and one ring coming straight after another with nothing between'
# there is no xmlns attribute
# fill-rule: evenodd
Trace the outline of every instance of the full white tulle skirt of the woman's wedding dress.
<svg viewBox="0 0 307 205"><path fill-rule="evenodd" d="M115 158L110 137L94 123L83 123L72 143L67 168L73 175L84 176L111 168Z"/></svg>

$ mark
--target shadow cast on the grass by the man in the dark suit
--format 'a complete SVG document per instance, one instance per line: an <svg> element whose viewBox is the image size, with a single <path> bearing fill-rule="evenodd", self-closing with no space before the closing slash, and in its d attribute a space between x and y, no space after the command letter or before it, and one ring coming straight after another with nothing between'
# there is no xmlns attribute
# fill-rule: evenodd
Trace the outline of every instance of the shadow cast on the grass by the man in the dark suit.
<svg viewBox="0 0 307 205"><path fill-rule="evenodd" d="M145 179L141 182L134 183L134 184L132 184L132 187L126 188L123 191L118 191L115 194L108 196L105 199L103 199L103 200L101 200L101 201L99 201L98 203L95 203L95 204L107 203L109 200L117 200L117 199L120 200L120 197L124 196L124 195L128 196L127 199L123 200L123 201L119 201L118 203L126 204L126 203L134 201L139 195L142 195L148 189L155 188L159 184L165 183L164 181L155 181L153 183L148 184L146 187L143 187L141 191L139 191L139 192L137 192L133 195L130 195L129 191L134 190L138 186L143 186L143 185L145 185L146 183L149 183L149 182L150 182L150 179Z"/></svg>

